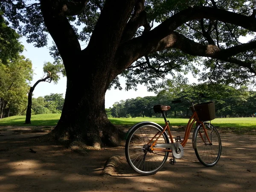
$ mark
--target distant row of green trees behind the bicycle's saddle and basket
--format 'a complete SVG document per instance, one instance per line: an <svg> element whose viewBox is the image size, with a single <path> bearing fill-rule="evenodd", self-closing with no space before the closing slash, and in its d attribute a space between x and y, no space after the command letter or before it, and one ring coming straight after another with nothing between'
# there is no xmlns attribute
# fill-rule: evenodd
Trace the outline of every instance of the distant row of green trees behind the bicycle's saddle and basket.
<svg viewBox="0 0 256 192"><path fill-rule="evenodd" d="M207 91L206 91L207 90ZM170 105L167 116L188 117L192 114L189 103L172 104L172 100L195 99L199 93L209 96L200 102L215 101L217 117L250 117L256 115L256 92L247 87L235 89L225 85L183 85L160 92L157 96L137 97L115 102L112 108L105 109L108 117L152 117L155 104Z"/></svg>

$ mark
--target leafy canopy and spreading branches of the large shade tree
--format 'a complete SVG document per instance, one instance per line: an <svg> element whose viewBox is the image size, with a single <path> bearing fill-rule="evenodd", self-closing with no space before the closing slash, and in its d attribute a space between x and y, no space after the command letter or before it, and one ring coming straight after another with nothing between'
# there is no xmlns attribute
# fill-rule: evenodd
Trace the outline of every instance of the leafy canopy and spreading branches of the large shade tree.
<svg viewBox="0 0 256 192"><path fill-rule="evenodd" d="M8 18L12 26L36 47L47 45L49 29L41 12L44 2L47 0L32 2L6 0L0 3L3 15ZM104 15L103 8L108 1L60 0L58 2L52 5L58 7L70 22L70 27L77 38L74 42L79 40L83 44L89 44L100 15ZM144 83L148 86L148 90L154 91L162 85L157 81L159 78L163 79L167 74L174 76L175 72L186 74L189 71L201 81L225 84L250 81L255 84L256 4L254 1L137 0L134 2L137 3L134 4L136 6L129 16L121 42L124 48L131 45L134 47L134 51L129 53L140 54L137 54L136 60L133 59L132 63L129 61L129 56L123 55L124 60L129 63L125 67L126 70L121 73L127 79L126 90L136 88L138 83ZM116 4L115 1L112 3ZM119 14L119 10L113 12ZM111 26L110 20L111 18L107 22L109 26ZM241 37L248 39L244 43ZM103 34L101 38L104 39ZM54 58L60 58L61 50L55 44L50 50ZM200 76L199 66L203 67ZM122 89L118 80L118 77L113 79L111 85Z"/></svg>

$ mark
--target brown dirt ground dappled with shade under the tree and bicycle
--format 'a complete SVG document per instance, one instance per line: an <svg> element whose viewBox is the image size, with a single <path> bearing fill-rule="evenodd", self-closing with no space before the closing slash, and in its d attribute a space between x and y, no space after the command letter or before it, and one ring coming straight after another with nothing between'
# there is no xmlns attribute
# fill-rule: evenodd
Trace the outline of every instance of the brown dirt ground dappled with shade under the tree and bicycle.
<svg viewBox="0 0 256 192"><path fill-rule="evenodd" d="M81 154L39 142L44 129L0 127L0 192L256 191L255 134L221 133L221 159L212 168L198 162L189 141L175 165L167 161L155 175L141 176L129 167L122 146ZM113 156L119 163L106 177L102 171Z"/></svg>

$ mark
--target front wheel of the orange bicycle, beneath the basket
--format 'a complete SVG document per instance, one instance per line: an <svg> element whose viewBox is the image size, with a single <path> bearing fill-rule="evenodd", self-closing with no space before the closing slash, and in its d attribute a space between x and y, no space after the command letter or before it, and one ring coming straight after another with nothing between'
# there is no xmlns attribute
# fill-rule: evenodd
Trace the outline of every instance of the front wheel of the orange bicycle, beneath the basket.
<svg viewBox="0 0 256 192"><path fill-rule="evenodd" d="M218 163L221 157L221 137L212 124L206 123L205 128L206 131L201 125L195 130L195 154L200 163L206 167L212 167Z"/></svg>

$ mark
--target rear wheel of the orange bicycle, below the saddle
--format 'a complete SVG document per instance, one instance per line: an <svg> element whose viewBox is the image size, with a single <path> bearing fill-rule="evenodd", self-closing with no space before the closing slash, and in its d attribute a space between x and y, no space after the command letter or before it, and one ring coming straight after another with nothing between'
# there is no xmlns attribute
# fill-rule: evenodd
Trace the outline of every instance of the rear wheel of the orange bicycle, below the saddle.
<svg viewBox="0 0 256 192"><path fill-rule="evenodd" d="M163 128L151 122L140 123L134 127L128 135L125 144L125 157L134 171L141 175L153 175L158 172L166 162L169 152L152 151L150 146ZM168 136L164 132L156 144L169 143Z"/></svg>

